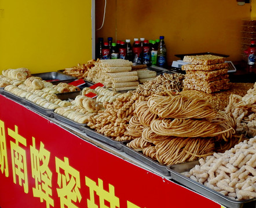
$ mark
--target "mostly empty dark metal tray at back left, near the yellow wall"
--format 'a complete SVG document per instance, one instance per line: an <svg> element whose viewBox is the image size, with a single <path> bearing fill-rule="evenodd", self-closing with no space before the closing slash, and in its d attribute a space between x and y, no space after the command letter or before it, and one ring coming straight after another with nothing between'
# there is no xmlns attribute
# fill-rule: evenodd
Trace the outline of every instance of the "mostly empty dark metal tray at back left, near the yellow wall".
<svg viewBox="0 0 256 208"><path fill-rule="evenodd" d="M32 76L41 77L43 80L46 81L63 81L63 80L74 80L75 77L70 75L65 75L64 73L60 72L45 72L45 73L35 73Z"/></svg>

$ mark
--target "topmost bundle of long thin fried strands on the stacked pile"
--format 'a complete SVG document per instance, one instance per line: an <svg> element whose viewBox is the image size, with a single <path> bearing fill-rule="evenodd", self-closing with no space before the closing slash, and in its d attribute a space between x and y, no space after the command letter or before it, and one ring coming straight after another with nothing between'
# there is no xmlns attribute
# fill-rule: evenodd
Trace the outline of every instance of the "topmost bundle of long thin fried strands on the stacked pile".
<svg viewBox="0 0 256 208"><path fill-rule="evenodd" d="M149 98L148 106L162 118L214 118L217 114L204 99L184 95L155 95Z"/></svg>

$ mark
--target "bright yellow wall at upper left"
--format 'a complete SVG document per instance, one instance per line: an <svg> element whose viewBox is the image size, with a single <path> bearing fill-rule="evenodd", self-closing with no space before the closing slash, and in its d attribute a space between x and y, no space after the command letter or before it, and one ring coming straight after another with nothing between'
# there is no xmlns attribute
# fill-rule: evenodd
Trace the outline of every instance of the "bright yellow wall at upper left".
<svg viewBox="0 0 256 208"><path fill-rule="evenodd" d="M0 71L50 72L92 59L91 8L84 0L0 0Z"/></svg>

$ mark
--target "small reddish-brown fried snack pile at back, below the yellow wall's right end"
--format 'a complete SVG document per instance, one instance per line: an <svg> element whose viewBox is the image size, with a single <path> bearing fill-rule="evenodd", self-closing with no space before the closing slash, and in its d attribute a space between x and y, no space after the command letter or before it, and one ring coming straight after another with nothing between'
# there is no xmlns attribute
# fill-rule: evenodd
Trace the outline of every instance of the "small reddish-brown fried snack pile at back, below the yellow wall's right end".
<svg viewBox="0 0 256 208"><path fill-rule="evenodd" d="M86 79L89 70L93 68L96 62L99 60L90 60L87 61L87 64L78 64L77 66L73 66L71 68L65 68L63 73L66 73L67 75L74 76L78 79Z"/></svg>

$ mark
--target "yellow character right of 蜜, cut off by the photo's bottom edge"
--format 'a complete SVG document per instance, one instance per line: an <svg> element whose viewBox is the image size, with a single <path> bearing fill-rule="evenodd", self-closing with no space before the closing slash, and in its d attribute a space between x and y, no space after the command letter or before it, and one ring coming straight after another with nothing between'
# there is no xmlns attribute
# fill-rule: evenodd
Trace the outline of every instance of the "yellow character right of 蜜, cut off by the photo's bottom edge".
<svg viewBox="0 0 256 208"><path fill-rule="evenodd" d="M94 191L100 198L100 208L115 208L119 207L119 198L115 196L115 187L111 184L108 184L108 190L105 191L103 188L103 180L98 179L98 185L89 177L85 177L85 184L90 188L90 199L87 199L88 208L97 208L98 206L95 203ZM105 201L109 202L110 206L105 205Z"/></svg>

